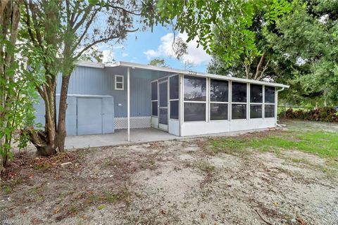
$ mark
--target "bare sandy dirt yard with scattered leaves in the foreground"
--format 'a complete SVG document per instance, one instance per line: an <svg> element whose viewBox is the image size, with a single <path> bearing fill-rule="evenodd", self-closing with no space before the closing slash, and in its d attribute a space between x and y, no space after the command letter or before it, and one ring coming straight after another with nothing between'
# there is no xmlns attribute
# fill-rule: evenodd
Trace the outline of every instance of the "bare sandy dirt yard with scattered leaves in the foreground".
<svg viewBox="0 0 338 225"><path fill-rule="evenodd" d="M338 224L337 159L215 152L213 139L17 154L1 184L0 224Z"/></svg>

